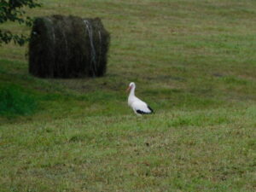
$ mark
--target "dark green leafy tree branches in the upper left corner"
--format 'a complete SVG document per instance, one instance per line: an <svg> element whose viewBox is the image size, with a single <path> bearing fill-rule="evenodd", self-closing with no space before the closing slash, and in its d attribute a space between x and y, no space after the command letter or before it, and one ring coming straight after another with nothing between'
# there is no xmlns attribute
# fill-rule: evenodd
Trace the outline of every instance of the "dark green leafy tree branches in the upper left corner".
<svg viewBox="0 0 256 192"><path fill-rule="evenodd" d="M37 0L0 0L0 25L7 21L18 22L20 25L32 26L32 18L25 16L24 8L33 9L41 6ZM29 40L26 35L15 34L0 28L0 45L10 41L23 45Z"/></svg>

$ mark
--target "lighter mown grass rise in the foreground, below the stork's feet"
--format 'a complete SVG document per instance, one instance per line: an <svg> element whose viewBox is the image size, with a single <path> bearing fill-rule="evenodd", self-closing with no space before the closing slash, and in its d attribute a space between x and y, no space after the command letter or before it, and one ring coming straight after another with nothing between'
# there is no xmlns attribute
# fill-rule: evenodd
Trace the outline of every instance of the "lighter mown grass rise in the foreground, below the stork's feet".
<svg viewBox="0 0 256 192"><path fill-rule="evenodd" d="M254 119L251 107L5 125L3 189L253 191Z"/></svg>

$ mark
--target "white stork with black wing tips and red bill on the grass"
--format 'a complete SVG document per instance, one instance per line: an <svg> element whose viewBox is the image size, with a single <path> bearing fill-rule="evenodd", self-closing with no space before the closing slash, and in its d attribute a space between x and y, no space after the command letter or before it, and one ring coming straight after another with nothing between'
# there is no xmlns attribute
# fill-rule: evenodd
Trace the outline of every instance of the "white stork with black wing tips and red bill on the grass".
<svg viewBox="0 0 256 192"><path fill-rule="evenodd" d="M137 115L154 113L153 109L150 108L146 102L143 102L134 95L135 88L135 83L131 82L127 89L127 91L131 90L128 97L128 105L133 109L134 113Z"/></svg>

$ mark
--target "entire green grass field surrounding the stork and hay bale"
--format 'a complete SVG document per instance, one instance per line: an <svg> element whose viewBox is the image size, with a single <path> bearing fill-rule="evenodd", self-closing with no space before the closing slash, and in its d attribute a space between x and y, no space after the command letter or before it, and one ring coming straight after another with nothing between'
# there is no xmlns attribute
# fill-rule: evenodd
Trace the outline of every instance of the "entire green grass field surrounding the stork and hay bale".
<svg viewBox="0 0 256 192"><path fill-rule="evenodd" d="M255 1L41 2L28 14L102 18L108 72L38 79L27 46L0 47L1 192L256 190Z"/></svg>

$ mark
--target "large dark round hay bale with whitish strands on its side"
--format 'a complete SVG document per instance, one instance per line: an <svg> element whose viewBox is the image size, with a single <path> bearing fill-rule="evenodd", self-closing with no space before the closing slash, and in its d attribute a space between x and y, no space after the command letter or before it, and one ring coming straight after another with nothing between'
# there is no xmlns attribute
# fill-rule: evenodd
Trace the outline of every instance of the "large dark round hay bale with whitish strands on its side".
<svg viewBox="0 0 256 192"><path fill-rule="evenodd" d="M99 77L106 73L109 33L99 18L37 18L29 44L29 73L41 78Z"/></svg>

